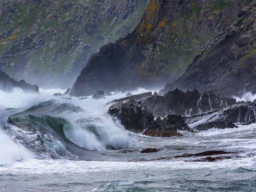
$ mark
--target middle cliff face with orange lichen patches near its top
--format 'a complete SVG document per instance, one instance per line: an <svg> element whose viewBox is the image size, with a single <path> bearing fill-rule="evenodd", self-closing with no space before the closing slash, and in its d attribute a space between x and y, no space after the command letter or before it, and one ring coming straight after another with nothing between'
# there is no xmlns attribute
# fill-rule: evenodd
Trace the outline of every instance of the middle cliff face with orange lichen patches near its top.
<svg viewBox="0 0 256 192"><path fill-rule="evenodd" d="M245 4L243 0L151 0L131 34L91 57L70 94L83 96L179 77Z"/></svg>

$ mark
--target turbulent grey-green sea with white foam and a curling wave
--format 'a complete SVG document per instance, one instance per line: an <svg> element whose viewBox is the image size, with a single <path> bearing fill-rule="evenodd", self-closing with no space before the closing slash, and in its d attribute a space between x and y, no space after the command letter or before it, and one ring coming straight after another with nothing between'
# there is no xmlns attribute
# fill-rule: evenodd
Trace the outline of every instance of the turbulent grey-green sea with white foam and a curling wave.
<svg viewBox="0 0 256 192"><path fill-rule="evenodd" d="M54 93L64 90L0 91L1 192L256 191L255 124L154 138L128 132L106 114L106 103L126 94L95 100ZM158 152L139 153L149 147ZM152 160L209 150L242 152L215 162Z"/></svg>

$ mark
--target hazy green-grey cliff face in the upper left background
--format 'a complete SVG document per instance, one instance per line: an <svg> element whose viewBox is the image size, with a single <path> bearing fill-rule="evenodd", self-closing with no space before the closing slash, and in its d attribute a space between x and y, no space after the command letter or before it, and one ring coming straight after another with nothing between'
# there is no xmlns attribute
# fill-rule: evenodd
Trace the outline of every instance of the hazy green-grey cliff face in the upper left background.
<svg viewBox="0 0 256 192"><path fill-rule="evenodd" d="M98 48L135 29L149 0L0 0L0 69L71 86Z"/></svg>

